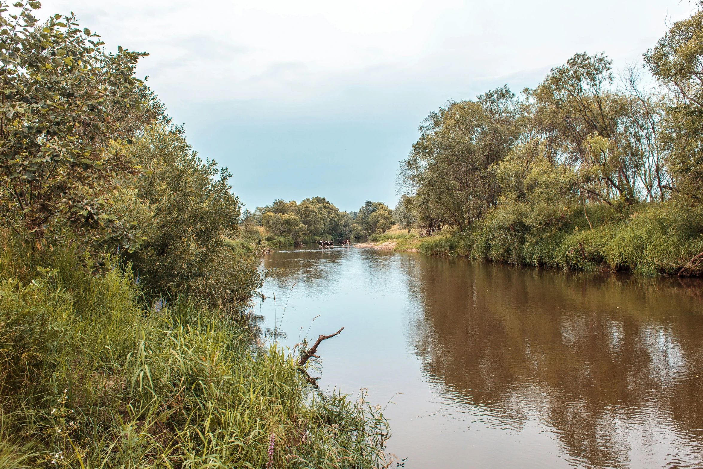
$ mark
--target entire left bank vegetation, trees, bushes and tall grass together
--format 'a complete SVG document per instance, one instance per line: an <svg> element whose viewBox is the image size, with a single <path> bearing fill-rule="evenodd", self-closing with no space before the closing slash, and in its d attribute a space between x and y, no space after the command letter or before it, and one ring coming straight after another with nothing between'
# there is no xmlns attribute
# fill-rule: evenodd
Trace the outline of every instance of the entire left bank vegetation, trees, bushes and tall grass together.
<svg viewBox="0 0 703 469"><path fill-rule="evenodd" d="M262 235L134 79L144 54L27 4L0 8L0 466L381 465L363 394L312 392L247 327Z"/></svg>

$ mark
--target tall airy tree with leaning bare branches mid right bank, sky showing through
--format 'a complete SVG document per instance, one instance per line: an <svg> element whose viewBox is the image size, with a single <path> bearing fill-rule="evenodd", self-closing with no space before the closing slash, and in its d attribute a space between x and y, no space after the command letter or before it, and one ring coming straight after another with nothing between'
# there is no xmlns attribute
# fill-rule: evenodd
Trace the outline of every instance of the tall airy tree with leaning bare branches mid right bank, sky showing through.
<svg viewBox="0 0 703 469"><path fill-rule="evenodd" d="M625 89L614 87L611 69L602 53L576 53L528 92L537 125L551 130L548 158L576 170L574 185L588 200L661 200L659 105L638 90L632 70Z"/></svg>

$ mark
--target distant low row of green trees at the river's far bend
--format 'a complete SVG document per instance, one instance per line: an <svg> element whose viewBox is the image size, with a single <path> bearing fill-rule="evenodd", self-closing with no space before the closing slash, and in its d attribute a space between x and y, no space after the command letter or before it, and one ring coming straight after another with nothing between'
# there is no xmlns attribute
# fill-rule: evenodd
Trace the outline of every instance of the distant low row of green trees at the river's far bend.
<svg viewBox="0 0 703 469"><path fill-rule="evenodd" d="M392 210L380 202L368 200L358 212L340 212L324 197L285 202L276 199L271 205L245 210L242 215L243 236L261 236L278 245L314 243L318 240L365 238L384 233L393 226ZM263 226L263 235L254 226Z"/></svg>

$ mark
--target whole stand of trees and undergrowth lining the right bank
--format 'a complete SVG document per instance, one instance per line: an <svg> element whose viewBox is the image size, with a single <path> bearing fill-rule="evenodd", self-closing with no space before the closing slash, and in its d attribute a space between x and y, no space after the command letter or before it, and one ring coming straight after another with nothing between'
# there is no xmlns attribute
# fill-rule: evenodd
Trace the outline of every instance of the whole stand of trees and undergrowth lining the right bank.
<svg viewBox="0 0 703 469"><path fill-rule="evenodd" d="M644 54L654 86L577 53L519 97L506 85L430 113L396 220L446 227L429 253L702 273L702 5Z"/></svg>

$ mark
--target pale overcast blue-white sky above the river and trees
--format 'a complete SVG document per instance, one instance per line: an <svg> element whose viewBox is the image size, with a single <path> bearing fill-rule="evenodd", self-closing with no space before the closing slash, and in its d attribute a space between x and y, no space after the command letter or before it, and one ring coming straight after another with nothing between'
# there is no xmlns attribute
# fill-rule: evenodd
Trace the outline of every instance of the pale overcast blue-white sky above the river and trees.
<svg viewBox="0 0 703 469"><path fill-rule="evenodd" d="M247 208L320 195L394 207L398 163L449 100L536 86L574 53L641 63L688 0L46 0L146 51L139 77Z"/></svg>

